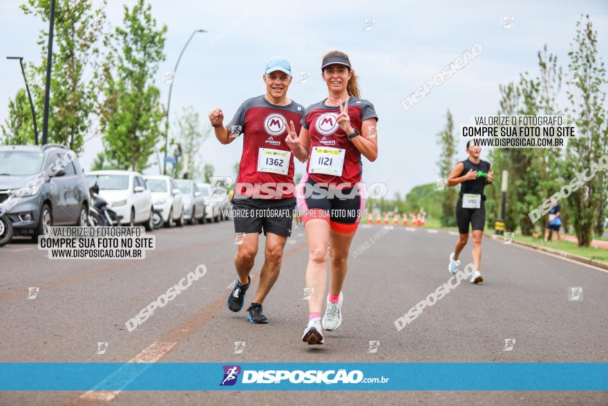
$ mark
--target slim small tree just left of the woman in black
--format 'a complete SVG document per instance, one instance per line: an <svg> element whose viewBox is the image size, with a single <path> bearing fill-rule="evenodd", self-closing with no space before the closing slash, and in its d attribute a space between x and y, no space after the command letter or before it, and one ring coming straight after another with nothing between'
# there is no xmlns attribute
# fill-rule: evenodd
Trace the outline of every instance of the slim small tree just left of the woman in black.
<svg viewBox="0 0 608 406"><path fill-rule="evenodd" d="M446 127L437 133L437 144L441 147L441 158L437 161L439 176L447 178L456 161L456 138L454 136L454 122L452 113L446 114ZM454 207L456 205L456 189L445 187L441 193L441 225L456 225Z"/></svg>

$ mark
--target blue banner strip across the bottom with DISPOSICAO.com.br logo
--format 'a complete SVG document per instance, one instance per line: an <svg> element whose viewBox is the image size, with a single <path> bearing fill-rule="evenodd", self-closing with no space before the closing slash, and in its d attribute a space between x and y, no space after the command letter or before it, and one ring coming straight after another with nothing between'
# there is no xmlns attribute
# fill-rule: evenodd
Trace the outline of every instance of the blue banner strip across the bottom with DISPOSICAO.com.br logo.
<svg viewBox="0 0 608 406"><path fill-rule="evenodd" d="M0 363L2 391L606 391L608 363Z"/></svg>

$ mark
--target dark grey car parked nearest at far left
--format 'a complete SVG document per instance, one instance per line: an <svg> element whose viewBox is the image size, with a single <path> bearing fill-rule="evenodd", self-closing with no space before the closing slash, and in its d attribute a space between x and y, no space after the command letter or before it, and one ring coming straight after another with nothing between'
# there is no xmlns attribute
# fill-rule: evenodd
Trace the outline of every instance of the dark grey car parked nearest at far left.
<svg viewBox="0 0 608 406"><path fill-rule="evenodd" d="M87 225L88 185L63 145L0 146L0 210L15 235L48 234L51 225Z"/></svg>

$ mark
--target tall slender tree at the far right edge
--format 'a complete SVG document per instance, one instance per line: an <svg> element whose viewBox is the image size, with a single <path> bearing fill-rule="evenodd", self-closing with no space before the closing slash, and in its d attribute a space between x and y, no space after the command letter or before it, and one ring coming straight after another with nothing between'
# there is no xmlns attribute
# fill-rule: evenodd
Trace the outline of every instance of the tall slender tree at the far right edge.
<svg viewBox="0 0 608 406"><path fill-rule="evenodd" d="M587 15L576 23L573 49L568 53L568 67L576 79L567 90L571 122L576 123L576 138L567 147L567 174L573 178L593 169L598 159L608 154L607 113L604 107L606 84L604 62L598 57L597 31ZM573 225L579 246L589 246L591 231L598 223L607 196L606 174L598 171L569 197L573 201ZM597 227L596 227L597 228Z"/></svg>

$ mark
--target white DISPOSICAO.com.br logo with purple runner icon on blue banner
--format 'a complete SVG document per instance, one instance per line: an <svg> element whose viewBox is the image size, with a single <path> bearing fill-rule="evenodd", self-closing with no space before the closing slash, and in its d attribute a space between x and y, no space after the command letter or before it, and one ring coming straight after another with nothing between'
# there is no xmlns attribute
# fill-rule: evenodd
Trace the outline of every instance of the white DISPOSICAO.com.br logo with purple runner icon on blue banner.
<svg viewBox="0 0 608 406"><path fill-rule="evenodd" d="M358 384L358 383L386 383L390 378L381 376L380 378L365 378L363 372L358 369L347 371L346 369L328 369L326 371L319 369L309 369L303 371L296 369L293 371L287 369L267 369L252 371L244 369L238 365L224 365L222 367L223 378L220 386L234 385L237 382L239 374L243 377L240 382L242 384ZM242 373L241 373L242 372Z"/></svg>

